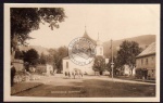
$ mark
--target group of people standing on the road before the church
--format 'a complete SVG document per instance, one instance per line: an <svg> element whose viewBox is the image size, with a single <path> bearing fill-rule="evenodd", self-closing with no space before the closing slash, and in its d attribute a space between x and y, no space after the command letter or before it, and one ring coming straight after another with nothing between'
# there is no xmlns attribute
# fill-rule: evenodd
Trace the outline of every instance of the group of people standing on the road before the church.
<svg viewBox="0 0 163 103"><path fill-rule="evenodd" d="M78 77L78 78L83 78L83 72L82 70L73 70L73 72L65 72L65 77L66 78L74 78L75 77Z"/></svg>

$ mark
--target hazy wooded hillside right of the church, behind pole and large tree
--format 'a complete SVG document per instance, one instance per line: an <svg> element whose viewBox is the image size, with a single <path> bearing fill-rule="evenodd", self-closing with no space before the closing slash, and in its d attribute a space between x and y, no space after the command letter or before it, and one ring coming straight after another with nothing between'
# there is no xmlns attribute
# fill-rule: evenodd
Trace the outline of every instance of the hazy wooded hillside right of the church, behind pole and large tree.
<svg viewBox="0 0 163 103"><path fill-rule="evenodd" d="M143 35L143 36L126 38L126 39L122 39L122 40L115 40L115 41L113 41L113 53L114 53L114 55L117 54L118 47L124 40L136 41L139 43L139 47L145 49L150 43L155 42L155 35ZM106 57L111 56L110 47L111 47L111 41L103 42L103 53Z"/></svg>

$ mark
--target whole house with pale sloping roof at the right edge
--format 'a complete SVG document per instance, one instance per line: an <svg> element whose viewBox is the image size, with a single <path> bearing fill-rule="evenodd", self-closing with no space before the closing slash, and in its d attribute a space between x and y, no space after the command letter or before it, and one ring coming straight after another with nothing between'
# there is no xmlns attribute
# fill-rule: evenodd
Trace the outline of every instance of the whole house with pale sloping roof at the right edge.
<svg viewBox="0 0 163 103"><path fill-rule="evenodd" d="M136 57L136 75L145 79L155 79L155 42Z"/></svg>

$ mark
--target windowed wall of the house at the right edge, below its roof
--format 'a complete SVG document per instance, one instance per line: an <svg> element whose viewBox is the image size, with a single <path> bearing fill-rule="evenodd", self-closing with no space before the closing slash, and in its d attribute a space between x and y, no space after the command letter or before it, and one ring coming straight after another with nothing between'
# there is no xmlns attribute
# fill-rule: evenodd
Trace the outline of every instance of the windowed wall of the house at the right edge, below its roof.
<svg viewBox="0 0 163 103"><path fill-rule="evenodd" d="M136 68L146 68L148 76L155 78L155 54L137 59Z"/></svg>

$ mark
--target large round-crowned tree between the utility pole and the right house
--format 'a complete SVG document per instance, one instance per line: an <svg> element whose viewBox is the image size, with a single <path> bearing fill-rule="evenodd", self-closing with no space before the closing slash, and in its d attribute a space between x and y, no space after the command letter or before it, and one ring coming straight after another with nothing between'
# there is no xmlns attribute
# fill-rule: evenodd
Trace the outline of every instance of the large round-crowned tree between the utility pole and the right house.
<svg viewBox="0 0 163 103"><path fill-rule="evenodd" d="M117 51L118 66L129 65L133 74L133 68L136 66L136 56L142 51L139 44L135 41L123 41Z"/></svg>

